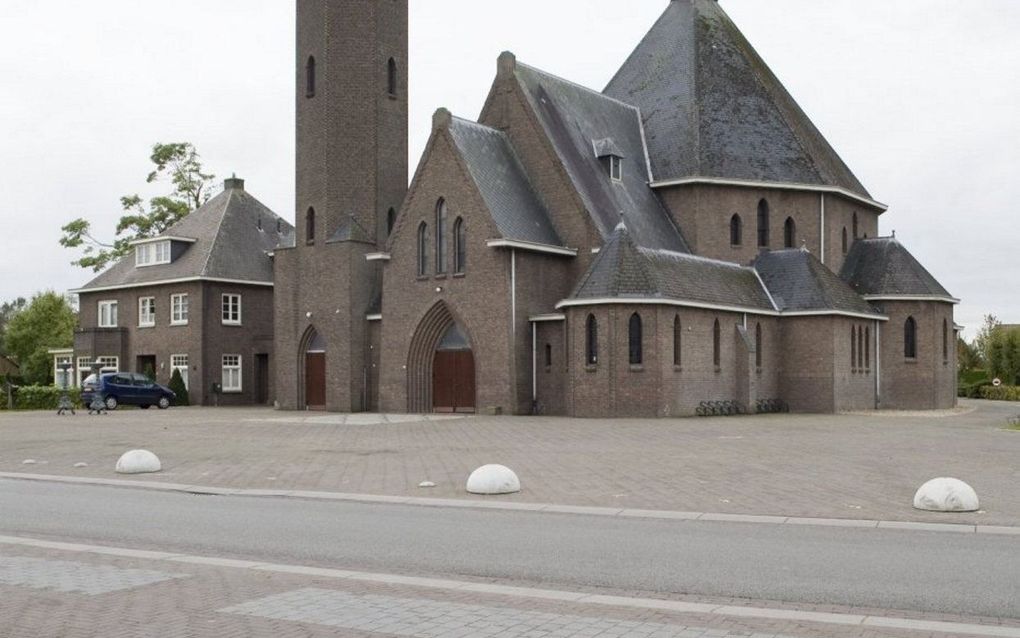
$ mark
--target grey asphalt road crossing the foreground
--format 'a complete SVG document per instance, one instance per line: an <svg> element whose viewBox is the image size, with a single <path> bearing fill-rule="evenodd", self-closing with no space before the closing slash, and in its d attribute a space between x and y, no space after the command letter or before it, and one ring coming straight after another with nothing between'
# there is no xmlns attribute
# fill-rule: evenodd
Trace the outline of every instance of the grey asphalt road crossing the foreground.
<svg viewBox="0 0 1020 638"><path fill-rule="evenodd" d="M571 589L1020 619L1020 538L0 480L0 534ZM2 551L0 546L0 551Z"/></svg>

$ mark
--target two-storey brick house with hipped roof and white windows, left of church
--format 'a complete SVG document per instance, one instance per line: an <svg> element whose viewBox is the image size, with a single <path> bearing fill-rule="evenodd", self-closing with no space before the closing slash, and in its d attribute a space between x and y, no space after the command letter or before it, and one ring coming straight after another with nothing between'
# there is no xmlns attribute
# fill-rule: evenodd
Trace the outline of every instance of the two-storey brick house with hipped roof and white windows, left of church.
<svg viewBox="0 0 1020 638"><path fill-rule="evenodd" d="M193 404L271 403L271 252L293 232L234 178L165 233L135 242L131 255L72 291L75 384L94 362L162 384L178 370Z"/></svg>

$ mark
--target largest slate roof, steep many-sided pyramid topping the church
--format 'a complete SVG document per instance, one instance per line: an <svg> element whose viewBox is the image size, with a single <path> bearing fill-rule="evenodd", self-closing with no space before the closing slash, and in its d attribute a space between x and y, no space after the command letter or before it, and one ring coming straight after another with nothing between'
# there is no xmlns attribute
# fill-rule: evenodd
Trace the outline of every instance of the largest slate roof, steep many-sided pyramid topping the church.
<svg viewBox="0 0 1020 638"><path fill-rule="evenodd" d="M716 0L672 0L605 93L641 108L656 181L864 186Z"/></svg>

